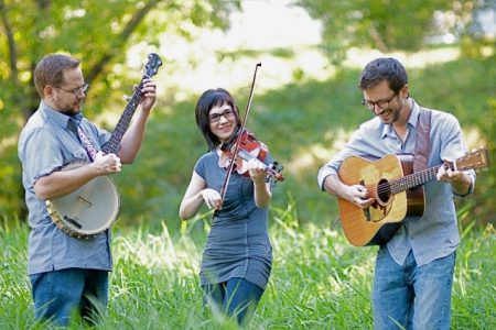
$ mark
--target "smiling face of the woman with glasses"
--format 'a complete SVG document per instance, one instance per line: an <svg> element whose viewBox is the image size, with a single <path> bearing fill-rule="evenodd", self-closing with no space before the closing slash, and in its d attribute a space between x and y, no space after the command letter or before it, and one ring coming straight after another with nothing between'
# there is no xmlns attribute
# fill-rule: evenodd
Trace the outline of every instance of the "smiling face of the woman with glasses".
<svg viewBox="0 0 496 330"><path fill-rule="evenodd" d="M234 109L226 102L214 106L208 112L208 120L212 133L220 143L228 142L237 127Z"/></svg>

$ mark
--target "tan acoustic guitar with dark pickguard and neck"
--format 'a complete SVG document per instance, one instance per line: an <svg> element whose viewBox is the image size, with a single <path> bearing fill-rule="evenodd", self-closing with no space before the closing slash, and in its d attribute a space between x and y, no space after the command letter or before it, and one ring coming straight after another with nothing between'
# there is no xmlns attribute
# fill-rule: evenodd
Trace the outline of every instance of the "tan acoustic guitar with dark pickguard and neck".
<svg viewBox="0 0 496 330"><path fill-rule="evenodd" d="M337 198L346 239L355 246L378 244L384 230L391 229L389 234L392 235L405 217L421 217L424 211L422 185L434 179L441 166L467 170L485 168L488 164L485 148L418 173L412 173L412 155L388 154L378 161L358 156L346 158L339 166L341 180L346 185L365 186L369 191L366 198L375 199L373 206L362 209L348 200Z"/></svg>

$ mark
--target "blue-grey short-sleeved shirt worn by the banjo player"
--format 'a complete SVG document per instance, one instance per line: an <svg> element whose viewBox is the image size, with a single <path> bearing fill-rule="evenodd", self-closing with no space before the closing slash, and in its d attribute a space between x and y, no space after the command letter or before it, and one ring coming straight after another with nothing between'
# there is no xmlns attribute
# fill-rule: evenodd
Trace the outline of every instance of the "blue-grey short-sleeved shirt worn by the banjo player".
<svg viewBox="0 0 496 330"><path fill-rule="evenodd" d="M98 129L83 116L68 117L43 101L30 118L19 138L19 158L22 163L22 183L29 210L29 274L69 267L110 271L110 233L89 240L72 238L51 220L44 200L34 194L34 184L43 176L60 170L74 162L89 162L79 142L77 124L99 151L110 133Z"/></svg>

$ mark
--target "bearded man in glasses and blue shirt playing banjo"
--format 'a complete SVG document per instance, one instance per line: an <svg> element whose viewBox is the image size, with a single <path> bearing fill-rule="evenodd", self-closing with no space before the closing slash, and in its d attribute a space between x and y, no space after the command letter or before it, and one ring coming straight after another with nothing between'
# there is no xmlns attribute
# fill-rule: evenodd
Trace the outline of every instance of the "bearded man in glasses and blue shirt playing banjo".
<svg viewBox="0 0 496 330"><path fill-rule="evenodd" d="M121 138L118 152L105 154L110 133L82 113L88 84L79 62L62 54L47 55L34 69L34 82L40 108L19 139L31 227L28 271L36 318L67 326L73 312L86 318L107 306L108 272L112 267L110 233L105 230L87 240L68 235L52 221L45 201L119 173L121 164L133 162L155 101L155 84L143 78L136 90L141 110ZM80 164L64 168L69 163ZM95 189L87 199L97 193ZM79 199L82 206L90 207L88 200Z"/></svg>

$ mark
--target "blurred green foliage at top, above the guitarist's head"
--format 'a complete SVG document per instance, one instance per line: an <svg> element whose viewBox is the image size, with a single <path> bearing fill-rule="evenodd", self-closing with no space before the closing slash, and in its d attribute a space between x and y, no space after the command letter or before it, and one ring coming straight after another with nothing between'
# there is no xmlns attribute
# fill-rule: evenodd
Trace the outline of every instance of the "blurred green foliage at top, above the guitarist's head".
<svg viewBox="0 0 496 330"><path fill-rule="evenodd" d="M460 37L473 26L477 10L486 7L483 2L489 1L295 1L322 22L322 48L335 63L352 47L412 52L442 34Z"/></svg>

